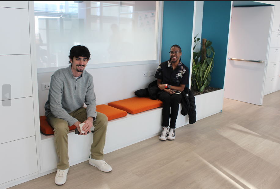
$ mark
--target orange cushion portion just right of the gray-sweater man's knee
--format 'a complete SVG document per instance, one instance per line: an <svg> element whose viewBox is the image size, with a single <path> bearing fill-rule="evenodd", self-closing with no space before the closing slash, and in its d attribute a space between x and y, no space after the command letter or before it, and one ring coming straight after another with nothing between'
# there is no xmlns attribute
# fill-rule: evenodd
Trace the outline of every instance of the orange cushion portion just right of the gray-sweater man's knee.
<svg viewBox="0 0 280 189"><path fill-rule="evenodd" d="M120 109L113 108L105 104L97 105L96 111L100 113L104 113L108 117L108 121L127 116L127 112Z"/></svg>

